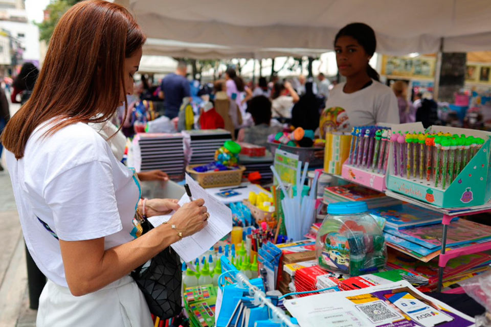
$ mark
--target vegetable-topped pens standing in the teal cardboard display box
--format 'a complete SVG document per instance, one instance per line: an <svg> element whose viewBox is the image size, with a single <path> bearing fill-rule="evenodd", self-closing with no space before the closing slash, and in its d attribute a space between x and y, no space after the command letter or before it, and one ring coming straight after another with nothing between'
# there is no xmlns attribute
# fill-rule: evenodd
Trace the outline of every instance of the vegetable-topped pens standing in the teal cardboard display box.
<svg viewBox="0 0 491 327"><path fill-rule="evenodd" d="M445 189L484 144L484 139L461 134L393 132L394 175L434 181Z"/></svg>

